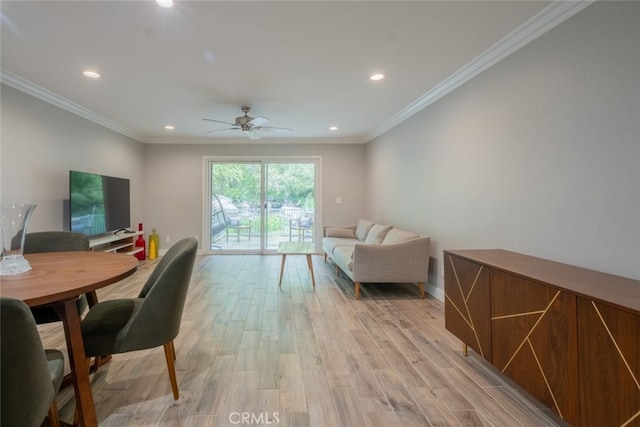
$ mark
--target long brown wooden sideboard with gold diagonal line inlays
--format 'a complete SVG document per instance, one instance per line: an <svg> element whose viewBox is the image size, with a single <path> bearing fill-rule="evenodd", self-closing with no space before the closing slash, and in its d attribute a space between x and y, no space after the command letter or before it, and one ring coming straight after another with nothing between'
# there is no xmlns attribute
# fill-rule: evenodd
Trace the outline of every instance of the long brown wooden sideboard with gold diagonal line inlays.
<svg viewBox="0 0 640 427"><path fill-rule="evenodd" d="M576 426L640 427L640 281L499 249L449 250L445 326Z"/></svg>

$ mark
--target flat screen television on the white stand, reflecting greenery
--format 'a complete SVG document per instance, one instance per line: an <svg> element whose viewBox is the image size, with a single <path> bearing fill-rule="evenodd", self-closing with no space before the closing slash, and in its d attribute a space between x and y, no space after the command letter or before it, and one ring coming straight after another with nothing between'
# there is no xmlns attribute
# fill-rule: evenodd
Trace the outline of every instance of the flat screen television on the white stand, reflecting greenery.
<svg viewBox="0 0 640 427"><path fill-rule="evenodd" d="M131 226L129 180L69 171L71 231L95 236Z"/></svg>

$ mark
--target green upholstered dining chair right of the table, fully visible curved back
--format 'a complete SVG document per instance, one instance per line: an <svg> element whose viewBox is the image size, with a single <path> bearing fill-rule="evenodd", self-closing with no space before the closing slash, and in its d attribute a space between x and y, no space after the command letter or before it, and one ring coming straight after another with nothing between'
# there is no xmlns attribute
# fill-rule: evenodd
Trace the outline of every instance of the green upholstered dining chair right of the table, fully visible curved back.
<svg viewBox="0 0 640 427"><path fill-rule="evenodd" d="M160 258L137 298L105 300L91 307L81 323L87 357L164 346L173 397L178 400L173 340L180 331L197 249L195 238L180 240Z"/></svg>

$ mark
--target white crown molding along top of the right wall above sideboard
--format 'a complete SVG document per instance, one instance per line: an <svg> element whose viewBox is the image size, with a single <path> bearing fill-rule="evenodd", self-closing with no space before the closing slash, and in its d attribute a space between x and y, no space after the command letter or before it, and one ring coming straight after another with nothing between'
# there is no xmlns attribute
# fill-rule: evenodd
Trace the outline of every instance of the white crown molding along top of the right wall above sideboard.
<svg viewBox="0 0 640 427"><path fill-rule="evenodd" d="M595 0L554 1L511 33L498 40L471 62L374 129L373 132L367 135L367 142L399 125L594 2Z"/></svg>

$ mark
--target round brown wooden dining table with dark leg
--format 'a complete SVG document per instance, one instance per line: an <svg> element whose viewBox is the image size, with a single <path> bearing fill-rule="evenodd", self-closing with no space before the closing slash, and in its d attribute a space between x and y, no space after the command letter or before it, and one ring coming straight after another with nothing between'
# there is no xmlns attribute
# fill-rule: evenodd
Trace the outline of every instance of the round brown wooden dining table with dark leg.
<svg viewBox="0 0 640 427"><path fill-rule="evenodd" d="M98 425L89 364L84 352L76 300L82 294L132 275L136 257L113 252L49 252L25 255L31 270L0 276L0 296L23 300L30 307L51 306L62 320L80 425ZM91 305L92 298L89 298Z"/></svg>

